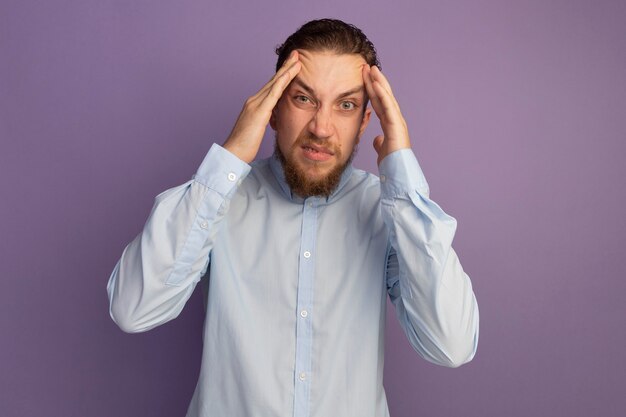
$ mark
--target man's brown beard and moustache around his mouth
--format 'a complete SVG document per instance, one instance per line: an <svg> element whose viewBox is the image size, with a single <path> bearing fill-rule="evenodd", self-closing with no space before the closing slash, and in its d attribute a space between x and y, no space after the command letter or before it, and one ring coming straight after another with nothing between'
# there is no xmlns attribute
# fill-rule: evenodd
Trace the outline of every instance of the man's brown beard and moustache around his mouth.
<svg viewBox="0 0 626 417"><path fill-rule="evenodd" d="M307 176L306 172L296 163L293 157L294 152L307 144L316 144L330 148L338 160L342 159L341 148L331 146L328 141L320 140L311 135L299 136L298 139L291 145L289 153L283 154L278 146L278 134L276 135L276 142L274 143L274 153L278 157L281 165L283 166L283 172L285 174L285 180L291 189L291 192L299 195L300 197L329 197L333 191L337 189L339 182L341 181L341 175L346 170L348 165L352 163L352 159L357 152L357 146L354 146L350 157L344 162L335 165L328 174L315 179ZM318 163L312 161L317 165Z"/></svg>

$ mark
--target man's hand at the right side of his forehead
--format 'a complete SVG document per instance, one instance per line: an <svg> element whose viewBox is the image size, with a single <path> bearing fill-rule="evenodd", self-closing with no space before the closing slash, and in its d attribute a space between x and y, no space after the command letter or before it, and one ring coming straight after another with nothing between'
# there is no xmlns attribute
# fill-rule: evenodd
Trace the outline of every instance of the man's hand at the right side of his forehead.
<svg viewBox="0 0 626 417"><path fill-rule="evenodd" d="M363 66L363 81L372 107L380 119L383 134L374 139L378 165L387 155L399 149L410 148L409 130L391 86L377 66Z"/></svg>

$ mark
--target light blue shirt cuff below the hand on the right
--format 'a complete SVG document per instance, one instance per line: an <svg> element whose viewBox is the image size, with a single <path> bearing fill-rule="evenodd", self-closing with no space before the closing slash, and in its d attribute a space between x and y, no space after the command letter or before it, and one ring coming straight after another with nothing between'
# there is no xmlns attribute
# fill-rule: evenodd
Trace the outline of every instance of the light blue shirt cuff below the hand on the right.
<svg viewBox="0 0 626 417"><path fill-rule="evenodd" d="M426 177L412 149L400 149L387 155L378 167L382 198L397 198L417 191L428 197Z"/></svg>

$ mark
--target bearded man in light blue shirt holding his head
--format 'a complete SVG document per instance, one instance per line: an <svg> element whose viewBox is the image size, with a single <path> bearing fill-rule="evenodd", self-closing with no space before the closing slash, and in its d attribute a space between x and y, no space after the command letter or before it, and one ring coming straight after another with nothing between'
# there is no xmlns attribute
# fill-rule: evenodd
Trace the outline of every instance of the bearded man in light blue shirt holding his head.
<svg viewBox="0 0 626 417"><path fill-rule="evenodd" d="M478 340L456 221L428 198L373 45L323 19L277 49L193 180L156 198L108 284L125 331L175 318L208 270L203 360L188 416L388 416L386 296L415 350L459 366ZM371 109L380 179L350 162ZM275 154L252 163L265 128ZM250 166L249 164L252 164Z"/></svg>

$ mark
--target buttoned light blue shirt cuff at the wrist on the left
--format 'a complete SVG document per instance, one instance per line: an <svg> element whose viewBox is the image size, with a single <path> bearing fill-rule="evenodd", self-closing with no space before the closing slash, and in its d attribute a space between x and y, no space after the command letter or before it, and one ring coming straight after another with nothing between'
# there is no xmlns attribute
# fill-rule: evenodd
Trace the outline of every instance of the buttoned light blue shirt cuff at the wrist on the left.
<svg viewBox="0 0 626 417"><path fill-rule="evenodd" d="M224 197L231 197L249 172L250 165L214 143L193 179Z"/></svg>

